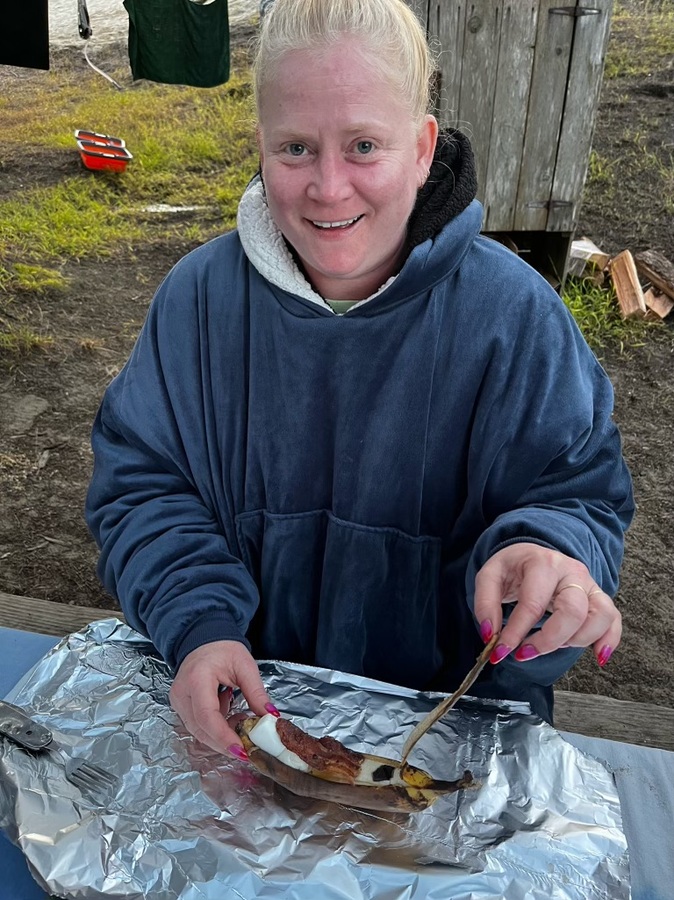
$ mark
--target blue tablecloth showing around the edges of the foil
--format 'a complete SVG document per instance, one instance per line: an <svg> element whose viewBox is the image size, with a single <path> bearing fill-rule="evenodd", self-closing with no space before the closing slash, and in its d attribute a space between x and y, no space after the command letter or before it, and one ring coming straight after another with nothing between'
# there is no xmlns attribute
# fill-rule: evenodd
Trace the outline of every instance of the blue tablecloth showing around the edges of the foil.
<svg viewBox="0 0 674 900"><path fill-rule="evenodd" d="M49 635L0 627L0 697L57 642ZM633 900L673 900L674 753L577 734L564 737L604 761L615 774L630 851ZM2 833L0 873L0 900L44 900L23 854Z"/></svg>

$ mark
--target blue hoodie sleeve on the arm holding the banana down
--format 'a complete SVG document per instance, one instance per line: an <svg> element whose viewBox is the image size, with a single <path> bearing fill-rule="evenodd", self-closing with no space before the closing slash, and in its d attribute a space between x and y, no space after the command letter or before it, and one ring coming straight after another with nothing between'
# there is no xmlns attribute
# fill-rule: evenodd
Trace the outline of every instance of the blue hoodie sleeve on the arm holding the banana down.
<svg viewBox="0 0 674 900"><path fill-rule="evenodd" d="M105 393L86 501L99 577L173 668L209 641L246 644L258 604L217 512L208 328L193 268L167 276Z"/></svg>

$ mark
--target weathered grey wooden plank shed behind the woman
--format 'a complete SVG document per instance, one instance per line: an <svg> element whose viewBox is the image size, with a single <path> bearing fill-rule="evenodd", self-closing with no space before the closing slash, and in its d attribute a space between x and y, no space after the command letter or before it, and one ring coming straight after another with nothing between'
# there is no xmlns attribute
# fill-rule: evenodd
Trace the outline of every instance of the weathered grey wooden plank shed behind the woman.
<svg viewBox="0 0 674 900"><path fill-rule="evenodd" d="M483 229L562 283L612 0L409 0L440 51L438 117L473 143Z"/></svg>

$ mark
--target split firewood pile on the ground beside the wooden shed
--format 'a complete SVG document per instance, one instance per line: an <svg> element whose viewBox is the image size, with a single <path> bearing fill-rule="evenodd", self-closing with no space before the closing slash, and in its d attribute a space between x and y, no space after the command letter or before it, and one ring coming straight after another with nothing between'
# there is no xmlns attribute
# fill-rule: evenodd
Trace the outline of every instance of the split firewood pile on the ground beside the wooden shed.
<svg viewBox="0 0 674 900"><path fill-rule="evenodd" d="M603 253L583 238L571 251L583 266L608 276L615 287L620 313L633 316L666 318L674 309L674 264L657 250L642 250L632 255L623 250L617 256Z"/></svg>

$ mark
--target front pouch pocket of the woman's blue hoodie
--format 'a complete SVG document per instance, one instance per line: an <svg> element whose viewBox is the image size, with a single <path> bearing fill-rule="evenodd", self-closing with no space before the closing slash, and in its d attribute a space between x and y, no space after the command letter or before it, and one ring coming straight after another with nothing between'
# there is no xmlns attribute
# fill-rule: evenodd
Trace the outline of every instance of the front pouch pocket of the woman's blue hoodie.
<svg viewBox="0 0 674 900"><path fill-rule="evenodd" d="M441 541L360 525L327 510L237 518L242 558L260 590L249 637L272 657L397 684L440 665Z"/></svg>

